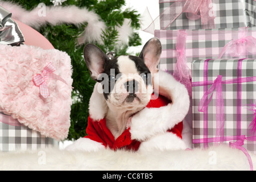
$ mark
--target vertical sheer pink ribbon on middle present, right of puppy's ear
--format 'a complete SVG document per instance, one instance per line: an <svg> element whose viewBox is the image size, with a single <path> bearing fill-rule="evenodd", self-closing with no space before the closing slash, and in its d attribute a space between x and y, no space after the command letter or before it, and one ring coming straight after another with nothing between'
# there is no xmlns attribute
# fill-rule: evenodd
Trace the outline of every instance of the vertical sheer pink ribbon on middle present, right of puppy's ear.
<svg viewBox="0 0 256 182"><path fill-rule="evenodd" d="M188 68L187 59L185 54L187 33L185 30L179 30L177 34L177 63L174 69L174 77L177 81L181 82L188 89L188 93L192 94L191 87L191 69Z"/></svg>

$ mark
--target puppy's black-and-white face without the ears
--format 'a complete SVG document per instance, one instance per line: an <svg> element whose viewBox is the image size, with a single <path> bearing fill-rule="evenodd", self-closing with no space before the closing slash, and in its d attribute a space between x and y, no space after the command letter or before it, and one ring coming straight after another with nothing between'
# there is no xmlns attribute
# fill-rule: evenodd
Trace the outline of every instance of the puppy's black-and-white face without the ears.
<svg viewBox="0 0 256 182"><path fill-rule="evenodd" d="M150 70L137 56L109 60L98 81L110 104L127 109L146 106L153 91Z"/></svg>

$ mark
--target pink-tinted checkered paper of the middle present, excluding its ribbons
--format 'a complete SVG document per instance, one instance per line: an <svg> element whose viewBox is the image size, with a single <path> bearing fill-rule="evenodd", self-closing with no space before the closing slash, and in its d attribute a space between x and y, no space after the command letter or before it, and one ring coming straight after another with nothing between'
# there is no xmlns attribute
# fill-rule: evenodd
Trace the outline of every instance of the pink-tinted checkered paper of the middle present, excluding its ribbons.
<svg viewBox="0 0 256 182"><path fill-rule="evenodd" d="M159 69L174 72L177 62L177 34L179 30L155 30L155 37L162 43L162 55ZM232 40L239 38L241 28L224 28L213 30L186 30L187 40L185 44L185 56L187 65L191 68L193 60L217 59L222 49ZM247 28L246 36L256 38L256 27ZM256 55L248 55L254 59ZM224 55L222 58L232 58Z"/></svg>

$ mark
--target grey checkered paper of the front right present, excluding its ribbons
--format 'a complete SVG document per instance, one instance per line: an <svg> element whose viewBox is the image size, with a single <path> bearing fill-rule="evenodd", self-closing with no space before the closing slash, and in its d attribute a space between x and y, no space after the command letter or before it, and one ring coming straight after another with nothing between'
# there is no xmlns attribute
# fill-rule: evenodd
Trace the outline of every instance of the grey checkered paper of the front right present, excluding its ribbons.
<svg viewBox="0 0 256 182"><path fill-rule="evenodd" d="M204 81L205 60L196 60L192 63L192 82ZM238 59L212 59L208 64L208 81L214 81L222 75L222 81L237 78ZM245 59L242 61L241 77L256 76L256 60ZM221 84L225 107L224 137L236 136L237 130L237 84ZM208 89L211 85L208 85ZM199 103L204 95L204 86L192 87L193 111L193 147L204 147L204 143L195 143L195 140L205 138L204 113L198 111ZM216 137L216 92L208 105L207 138ZM209 98L209 97L208 97ZM253 111L247 109L256 98L256 82L243 82L241 84L241 135L251 137L249 125L253 121ZM238 132L238 133L237 133ZM229 143L230 141L224 141ZM213 143L208 143L213 144ZM256 152L256 142L245 140L243 145L247 150Z"/></svg>

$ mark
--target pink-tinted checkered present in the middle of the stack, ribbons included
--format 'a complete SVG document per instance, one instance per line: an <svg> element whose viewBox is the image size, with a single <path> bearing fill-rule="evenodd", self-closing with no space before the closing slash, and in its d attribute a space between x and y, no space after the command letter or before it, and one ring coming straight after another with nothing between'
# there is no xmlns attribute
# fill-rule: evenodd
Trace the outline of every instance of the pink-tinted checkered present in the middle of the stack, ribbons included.
<svg viewBox="0 0 256 182"><path fill-rule="evenodd" d="M158 68L173 74L176 80L183 83L191 98L191 62L193 60L256 58L256 27L220 30L156 30L155 36L162 43L162 55ZM192 105L184 119L184 131L186 126L188 126L187 130L191 131L192 138Z"/></svg>

